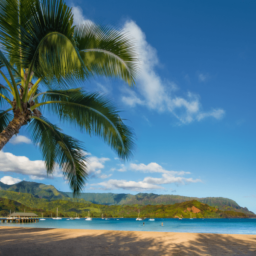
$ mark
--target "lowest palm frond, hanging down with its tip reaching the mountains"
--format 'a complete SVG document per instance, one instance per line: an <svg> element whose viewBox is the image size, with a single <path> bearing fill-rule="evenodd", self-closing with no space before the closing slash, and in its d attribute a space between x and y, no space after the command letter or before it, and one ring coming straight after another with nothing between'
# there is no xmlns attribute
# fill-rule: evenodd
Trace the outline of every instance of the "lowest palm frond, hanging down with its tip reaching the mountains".
<svg viewBox="0 0 256 256"><path fill-rule="evenodd" d="M74 197L84 189L87 178L87 155L81 142L61 132L47 119L35 117L27 128L34 145L38 145L48 174L60 168Z"/></svg>

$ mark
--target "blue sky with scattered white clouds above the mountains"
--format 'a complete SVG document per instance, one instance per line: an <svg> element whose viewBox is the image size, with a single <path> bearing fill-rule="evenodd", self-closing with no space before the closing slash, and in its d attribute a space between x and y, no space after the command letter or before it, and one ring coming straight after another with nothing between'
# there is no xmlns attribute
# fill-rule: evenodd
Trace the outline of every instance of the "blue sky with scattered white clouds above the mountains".
<svg viewBox="0 0 256 256"><path fill-rule="evenodd" d="M84 192L153 192L225 197L256 213L256 1L67 1L76 19L121 26L136 39L137 87L107 79L84 84L122 105L137 135L123 165L99 138L84 142L90 175ZM54 123L54 117L50 120ZM69 186L47 177L22 129L0 152L0 180Z"/></svg>

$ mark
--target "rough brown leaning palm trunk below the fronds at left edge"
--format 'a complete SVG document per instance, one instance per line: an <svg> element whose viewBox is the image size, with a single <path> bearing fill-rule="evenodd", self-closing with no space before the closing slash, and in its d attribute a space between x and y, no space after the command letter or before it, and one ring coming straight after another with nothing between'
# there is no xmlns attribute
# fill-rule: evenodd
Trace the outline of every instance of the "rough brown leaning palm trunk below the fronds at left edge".
<svg viewBox="0 0 256 256"><path fill-rule="evenodd" d="M0 151L3 146L12 138L14 134L19 133L20 127L26 124L25 116L20 115L14 117L11 122L7 125L6 129L4 129L0 133Z"/></svg>

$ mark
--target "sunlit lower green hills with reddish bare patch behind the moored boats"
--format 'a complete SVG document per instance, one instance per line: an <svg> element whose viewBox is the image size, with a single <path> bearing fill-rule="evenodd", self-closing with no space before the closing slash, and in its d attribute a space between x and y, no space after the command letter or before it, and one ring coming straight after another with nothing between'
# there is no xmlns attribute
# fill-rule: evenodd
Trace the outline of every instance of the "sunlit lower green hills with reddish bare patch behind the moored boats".
<svg viewBox="0 0 256 256"><path fill-rule="evenodd" d="M102 215L105 217L123 217L123 218L137 218L139 211L140 217L145 218L248 218L242 212L234 211L221 211L215 207L210 207L207 204L202 204L196 200L176 203L173 205L102 205L93 204L84 199L79 201L69 198L70 200L52 200L48 201L44 198L36 198L28 193L18 193L13 191L0 190L2 198L15 198L16 204L23 204L23 207L31 207L35 209L35 213L44 212L44 216L52 217L56 215L58 207L58 215L64 217L72 217L78 214L81 217L87 217L90 211L90 217L100 218ZM14 202L15 202L14 201ZM4 210L13 211L16 204L11 205L9 208L5 207ZM22 208L22 207L21 207ZM42 209L42 210L38 210ZM16 210L17 211L17 210ZM255 215L254 215L255 216Z"/></svg>

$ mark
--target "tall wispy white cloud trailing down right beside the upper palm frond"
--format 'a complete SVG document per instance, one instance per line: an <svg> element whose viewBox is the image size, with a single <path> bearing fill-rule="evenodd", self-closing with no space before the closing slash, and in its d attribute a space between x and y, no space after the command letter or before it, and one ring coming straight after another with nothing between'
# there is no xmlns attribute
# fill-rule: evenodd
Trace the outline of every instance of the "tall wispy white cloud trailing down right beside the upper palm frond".
<svg viewBox="0 0 256 256"><path fill-rule="evenodd" d="M200 96L195 93L188 92L186 95L177 95L175 93L178 90L177 84L162 79L157 73L156 67L159 66L157 50L148 44L145 33L132 20L126 21L124 29L136 39L135 44L141 52L141 65L138 93L122 89L126 94L122 96L122 102L131 107L145 105L151 110L169 111L183 124L195 120L200 121L210 116L216 119L224 116L225 111L222 109L205 112L200 102ZM200 73L198 79L205 81L208 76L208 73ZM188 75L185 76L185 79L189 82Z"/></svg>

